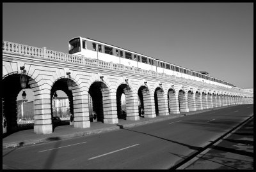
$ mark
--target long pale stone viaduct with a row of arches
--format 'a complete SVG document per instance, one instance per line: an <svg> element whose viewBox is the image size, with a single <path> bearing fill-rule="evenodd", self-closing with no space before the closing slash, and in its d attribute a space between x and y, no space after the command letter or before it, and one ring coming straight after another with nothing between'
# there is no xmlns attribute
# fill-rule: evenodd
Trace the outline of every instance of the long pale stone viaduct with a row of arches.
<svg viewBox="0 0 256 172"><path fill-rule="evenodd" d="M63 90L74 114L74 127L90 127L88 96L100 121L118 123L121 95L125 94L126 120L140 120L138 97L145 118L175 115L232 104L253 103L253 95L241 89L220 87L177 76L97 61L74 55L3 41L3 114L7 130L17 126L16 99L22 87L20 75L28 79L26 89L35 96L34 132L52 133L52 97ZM70 73L68 76L67 73ZM67 81L72 81L68 90Z"/></svg>

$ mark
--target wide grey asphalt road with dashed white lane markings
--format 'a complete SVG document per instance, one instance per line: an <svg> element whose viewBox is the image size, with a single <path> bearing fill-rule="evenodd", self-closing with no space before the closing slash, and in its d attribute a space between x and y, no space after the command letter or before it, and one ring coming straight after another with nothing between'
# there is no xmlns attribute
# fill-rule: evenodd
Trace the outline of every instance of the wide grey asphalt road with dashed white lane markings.
<svg viewBox="0 0 256 172"><path fill-rule="evenodd" d="M236 127L253 104L3 150L6 169L168 169Z"/></svg>

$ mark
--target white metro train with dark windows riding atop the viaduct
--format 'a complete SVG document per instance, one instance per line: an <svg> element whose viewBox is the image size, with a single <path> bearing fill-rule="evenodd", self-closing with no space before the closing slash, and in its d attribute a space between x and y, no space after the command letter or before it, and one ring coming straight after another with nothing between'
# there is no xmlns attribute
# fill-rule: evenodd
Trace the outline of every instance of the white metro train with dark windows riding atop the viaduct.
<svg viewBox="0 0 256 172"><path fill-rule="evenodd" d="M76 37L70 39L68 42L68 53L90 59L123 64L125 66L134 66L135 68L151 70L157 73L166 73L167 75L175 75L227 88L236 87L231 83L212 76L90 38Z"/></svg>

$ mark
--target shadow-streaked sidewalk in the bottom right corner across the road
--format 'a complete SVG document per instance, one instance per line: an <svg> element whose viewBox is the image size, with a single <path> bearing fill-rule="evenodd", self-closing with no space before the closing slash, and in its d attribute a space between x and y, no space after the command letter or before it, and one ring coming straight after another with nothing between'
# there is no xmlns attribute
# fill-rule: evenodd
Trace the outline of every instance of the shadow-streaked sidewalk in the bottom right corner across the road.
<svg viewBox="0 0 256 172"><path fill-rule="evenodd" d="M253 118L179 169L253 169Z"/></svg>

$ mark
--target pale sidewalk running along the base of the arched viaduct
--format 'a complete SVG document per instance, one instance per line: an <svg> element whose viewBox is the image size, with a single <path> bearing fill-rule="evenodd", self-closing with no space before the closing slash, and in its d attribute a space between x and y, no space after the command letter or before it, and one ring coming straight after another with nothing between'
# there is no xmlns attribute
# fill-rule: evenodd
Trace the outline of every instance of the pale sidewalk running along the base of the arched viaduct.
<svg viewBox="0 0 256 172"><path fill-rule="evenodd" d="M113 131L122 128L130 128L137 125L150 124L152 122L159 122L172 118L184 117L184 115L193 115L197 113L203 113L205 111L218 110L221 108L227 108L228 106L222 106L207 110L191 111L181 113L177 115L157 116L156 118L143 118L140 120L118 120L118 124L103 124L102 122L91 122L91 127L86 129L75 128L73 125L62 125L54 129L54 133L51 134L35 134L33 129L19 131L13 133L6 138L3 138L3 148L19 147L23 145L31 145L36 143L42 143L52 140L64 140L67 138L74 138L77 136L86 136L90 134L99 134L108 131Z"/></svg>

